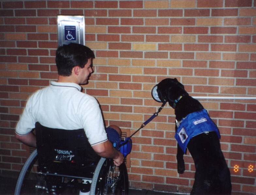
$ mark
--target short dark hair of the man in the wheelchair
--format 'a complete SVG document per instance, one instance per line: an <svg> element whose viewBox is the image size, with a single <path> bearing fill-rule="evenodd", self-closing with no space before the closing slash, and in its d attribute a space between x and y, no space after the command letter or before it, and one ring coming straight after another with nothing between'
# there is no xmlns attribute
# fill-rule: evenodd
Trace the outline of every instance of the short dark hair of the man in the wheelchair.
<svg viewBox="0 0 256 195"><path fill-rule="evenodd" d="M95 58L93 51L81 44L70 43L62 45L56 51L56 65L58 74L61 76L70 76L75 66L84 68L88 59Z"/></svg>

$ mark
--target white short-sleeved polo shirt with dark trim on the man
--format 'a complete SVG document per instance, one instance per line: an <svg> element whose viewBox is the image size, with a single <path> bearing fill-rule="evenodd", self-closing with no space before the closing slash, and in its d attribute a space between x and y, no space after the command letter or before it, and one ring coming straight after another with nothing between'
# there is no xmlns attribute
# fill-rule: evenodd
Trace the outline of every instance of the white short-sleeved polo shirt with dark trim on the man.
<svg viewBox="0 0 256 195"><path fill-rule="evenodd" d="M95 98L75 83L51 82L27 101L15 132L27 135L35 123L65 130L84 129L91 146L107 140L102 113Z"/></svg>

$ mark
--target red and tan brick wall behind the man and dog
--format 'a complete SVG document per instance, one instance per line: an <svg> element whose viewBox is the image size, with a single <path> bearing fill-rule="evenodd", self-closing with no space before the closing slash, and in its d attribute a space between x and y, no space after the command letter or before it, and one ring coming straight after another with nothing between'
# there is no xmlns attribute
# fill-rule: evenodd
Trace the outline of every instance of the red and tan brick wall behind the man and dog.
<svg viewBox="0 0 256 195"><path fill-rule="evenodd" d="M99 100L107 125L135 132L161 105L152 87L168 77L192 96L256 96L255 0L0 2L2 175L19 171L27 157L14 137L26 99L57 78L57 14L85 15L86 45L96 59L84 88ZM256 100L201 102L219 126L233 194L255 194ZM189 154L185 173L176 171L174 117L166 106L133 137L130 187L191 190Z"/></svg>

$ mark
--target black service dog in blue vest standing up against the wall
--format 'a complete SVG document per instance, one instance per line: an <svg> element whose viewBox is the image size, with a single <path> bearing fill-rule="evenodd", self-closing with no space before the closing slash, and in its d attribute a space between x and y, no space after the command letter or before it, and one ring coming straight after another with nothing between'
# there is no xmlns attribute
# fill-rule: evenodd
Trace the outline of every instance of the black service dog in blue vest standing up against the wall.
<svg viewBox="0 0 256 195"><path fill-rule="evenodd" d="M157 93L163 103L168 102L175 109L178 173L185 171L186 149L194 160L196 173L191 194L231 194L230 171L220 148L219 130L207 111L176 78L161 81Z"/></svg>

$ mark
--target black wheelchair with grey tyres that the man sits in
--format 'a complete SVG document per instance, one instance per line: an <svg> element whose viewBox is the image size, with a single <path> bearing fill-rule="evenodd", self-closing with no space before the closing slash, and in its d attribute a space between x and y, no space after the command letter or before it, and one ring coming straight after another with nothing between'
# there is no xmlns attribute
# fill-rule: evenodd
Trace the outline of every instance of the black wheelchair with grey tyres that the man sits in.
<svg viewBox="0 0 256 195"><path fill-rule="evenodd" d="M115 166L112 159L97 155L84 129L52 129L40 123L36 123L35 129L37 149L20 171L15 195L128 194L129 180L125 162ZM114 129L110 129L111 132L116 135ZM109 140L124 157L131 152L130 139L122 141L116 135Z"/></svg>

